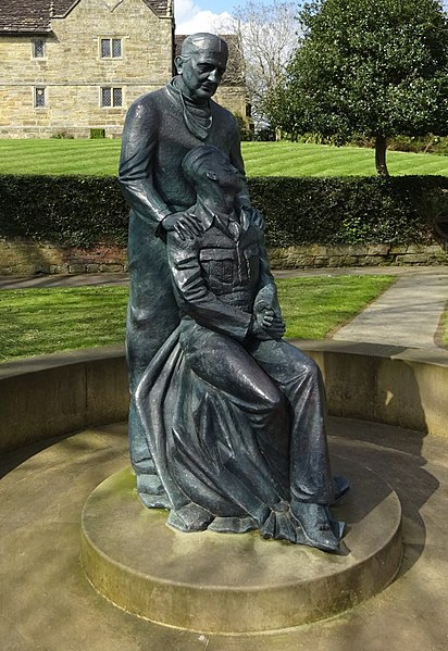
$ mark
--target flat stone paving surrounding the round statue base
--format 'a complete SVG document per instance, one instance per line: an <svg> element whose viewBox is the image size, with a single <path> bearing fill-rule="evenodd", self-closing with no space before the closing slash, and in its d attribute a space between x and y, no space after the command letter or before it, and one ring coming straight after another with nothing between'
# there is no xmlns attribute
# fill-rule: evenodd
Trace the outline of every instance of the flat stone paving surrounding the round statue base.
<svg viewBox="0 0 448 651"><path fill-rule="evenodd" d="M403 508L405 560L381 594L340 616L281 633L223 636L162 627L119 610L79 564L91 490L128 463L124 424L0 461L2 651L446 651L448 445L438 437L331 418L331 449L381 475ZM270 544L271 542L267 542Z"/></svg>

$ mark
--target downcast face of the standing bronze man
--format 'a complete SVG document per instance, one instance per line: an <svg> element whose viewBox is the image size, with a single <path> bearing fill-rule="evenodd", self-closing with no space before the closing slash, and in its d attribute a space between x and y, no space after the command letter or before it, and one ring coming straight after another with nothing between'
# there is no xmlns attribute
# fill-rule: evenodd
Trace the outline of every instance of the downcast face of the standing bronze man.
<svg viewBox="0 0 448 651"><path fill-rule="evenodd" d="M176 59L177 72L183 80L183 93L192 100L210 99L220 85L227 65L226 52L201 48L189 59Z"/></svg>

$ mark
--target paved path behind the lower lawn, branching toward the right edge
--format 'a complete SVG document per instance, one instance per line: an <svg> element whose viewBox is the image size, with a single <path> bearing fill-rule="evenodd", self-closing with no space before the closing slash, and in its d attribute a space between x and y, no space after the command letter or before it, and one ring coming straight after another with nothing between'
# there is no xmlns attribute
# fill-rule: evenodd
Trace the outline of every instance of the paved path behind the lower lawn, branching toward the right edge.
<svg viewBox="0 0 448 651"><path fill-rule="evenodd" d="M409 348L437 348L441 345L441 316L448 301L448 265L286 270L275 272L274 275L277 278L297 278L358 274L388 274L399 278L360 315L339 328L333 335L334 339ZM3 276L0 277L0 289L123 285L127 280L125 274L54 275L33 278Z"/></svg>

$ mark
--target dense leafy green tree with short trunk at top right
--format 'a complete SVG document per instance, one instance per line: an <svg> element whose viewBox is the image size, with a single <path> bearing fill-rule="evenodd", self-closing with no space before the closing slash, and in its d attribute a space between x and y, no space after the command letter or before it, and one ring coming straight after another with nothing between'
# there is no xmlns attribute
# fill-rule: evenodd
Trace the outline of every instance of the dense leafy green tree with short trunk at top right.
<svg viewBox="0 0 448 651"><path fill-rule="evenodd" d="M437 0L318 0L300 13L302 37L270 102L289 133L343 143L448 133L448 21Z"/></svg>

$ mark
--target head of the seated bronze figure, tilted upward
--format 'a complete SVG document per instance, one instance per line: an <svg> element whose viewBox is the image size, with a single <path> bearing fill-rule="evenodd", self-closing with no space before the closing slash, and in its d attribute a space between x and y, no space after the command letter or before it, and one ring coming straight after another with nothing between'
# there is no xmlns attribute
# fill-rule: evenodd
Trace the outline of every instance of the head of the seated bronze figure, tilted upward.
<svg viewBox="0 0 448 651"><path fill-rule="evenodd" d="M198 196L207 193L211 184L233 196L242 187L241 173L232 165L227 154L212 145L191 149L182 161L182 171Z"/></svg>

